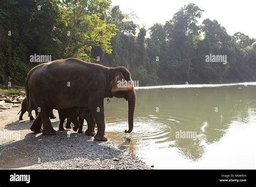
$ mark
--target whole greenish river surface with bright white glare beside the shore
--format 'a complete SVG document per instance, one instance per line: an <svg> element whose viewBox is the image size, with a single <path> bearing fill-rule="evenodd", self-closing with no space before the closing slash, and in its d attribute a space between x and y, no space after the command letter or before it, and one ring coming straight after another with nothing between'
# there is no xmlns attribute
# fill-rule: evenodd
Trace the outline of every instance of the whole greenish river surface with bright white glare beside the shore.
<svg viewBox="0 0 256 187"><path fill-rule="evenodd" d="M136 94L131 134L124 133L126 101L105 104L106 136L119 148L156 169L255 169L255 82L142 87Z"/></svg>

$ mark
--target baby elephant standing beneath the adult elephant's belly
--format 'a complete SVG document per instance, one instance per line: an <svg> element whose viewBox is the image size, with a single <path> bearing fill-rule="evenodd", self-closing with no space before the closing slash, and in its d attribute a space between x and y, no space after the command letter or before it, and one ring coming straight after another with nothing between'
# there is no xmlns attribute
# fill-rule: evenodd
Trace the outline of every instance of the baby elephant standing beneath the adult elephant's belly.
<svg viewBox="0 0 256 187"><path fill-rule="evenodd" d="M87 107L72 107L68 109L59 109L59 131L64 131L63 124L64 120L66 121L66 128L71 128L70 124L73 123L75 126L73 127L73 131L77 131L78 133L83 133L83 124L84 119L87 122L87 126L90 126L91 120L91 112Z"/></svg>

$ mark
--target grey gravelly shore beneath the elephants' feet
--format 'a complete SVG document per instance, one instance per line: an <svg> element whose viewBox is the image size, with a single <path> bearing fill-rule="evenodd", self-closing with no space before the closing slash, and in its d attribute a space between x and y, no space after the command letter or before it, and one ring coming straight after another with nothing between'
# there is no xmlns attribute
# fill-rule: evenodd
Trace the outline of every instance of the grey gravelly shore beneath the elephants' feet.
<svg viewBox="0 0 256 187"><path fill-rule="evenodd" d="M32 133L28 113L19 121L19 110L0 112L0 169L150 169L111 140L100 142L73 131L50 136ZM57 131L57 111L55 116L51 121Z"/></svg>

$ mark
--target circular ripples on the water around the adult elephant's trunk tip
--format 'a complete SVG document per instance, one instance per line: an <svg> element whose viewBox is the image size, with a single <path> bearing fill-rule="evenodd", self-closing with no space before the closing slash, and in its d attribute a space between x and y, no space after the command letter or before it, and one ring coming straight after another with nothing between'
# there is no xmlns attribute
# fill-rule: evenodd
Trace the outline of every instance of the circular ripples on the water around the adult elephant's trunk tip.
<svg viewBox="0 0 256 187"><path fill-rule="evenodd" d="M142 152L146 147L164 148L171 143L171 124L178 124L179 121L169 115L148 115L137 114L134 117L134 127L130 134L124 133L128 129L127 117L108 116L106 118L106 135L112 141L117 142L120 148L137 149ZM170 120L171 119L171 120Z"/></svg>

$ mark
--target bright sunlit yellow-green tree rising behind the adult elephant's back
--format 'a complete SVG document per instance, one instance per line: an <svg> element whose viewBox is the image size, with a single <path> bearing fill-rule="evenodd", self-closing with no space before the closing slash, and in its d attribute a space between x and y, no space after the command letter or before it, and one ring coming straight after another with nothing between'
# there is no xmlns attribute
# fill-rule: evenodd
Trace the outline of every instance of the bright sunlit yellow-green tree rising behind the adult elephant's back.
<svg viewBox="0 0 256 187"><path fill-rule="evenodd" d="M110 3L109 0L64 1L59 6L67 33L64 57L91 61L92 48L111 53L111 38L115 35L116 27L106 22Z"/></svg>

